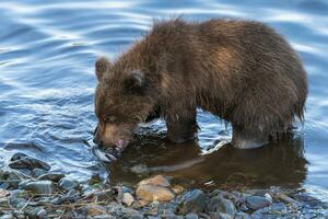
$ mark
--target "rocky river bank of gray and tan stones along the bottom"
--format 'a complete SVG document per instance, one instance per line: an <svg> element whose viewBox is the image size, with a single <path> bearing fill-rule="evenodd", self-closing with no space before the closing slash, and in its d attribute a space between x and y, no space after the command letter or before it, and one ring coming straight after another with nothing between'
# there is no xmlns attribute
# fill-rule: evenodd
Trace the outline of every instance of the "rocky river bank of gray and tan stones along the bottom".
<svg viewBox="0 0 328 219"><path fill-rule="evenodd" d="M300 188L184 188L165 175L137 185L77 182L16 153L0 169L0 218L327 218Z"/></svg>

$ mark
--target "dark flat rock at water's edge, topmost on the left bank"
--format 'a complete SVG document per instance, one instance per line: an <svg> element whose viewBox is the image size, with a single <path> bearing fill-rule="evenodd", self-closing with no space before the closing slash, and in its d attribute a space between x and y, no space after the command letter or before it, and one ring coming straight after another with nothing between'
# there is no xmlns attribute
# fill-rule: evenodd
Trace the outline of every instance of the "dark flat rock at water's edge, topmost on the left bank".
<svg viewBox="0 0 328 219"><path fill-rule="evenodd" d="M11 163L9 163L9 166L12 169L42 169L45 171L49 171L50 170L50 165L47 164L44 161L37 160L35 158L31 158L24 153L15 153L12 158L11 158Z"/></svg>

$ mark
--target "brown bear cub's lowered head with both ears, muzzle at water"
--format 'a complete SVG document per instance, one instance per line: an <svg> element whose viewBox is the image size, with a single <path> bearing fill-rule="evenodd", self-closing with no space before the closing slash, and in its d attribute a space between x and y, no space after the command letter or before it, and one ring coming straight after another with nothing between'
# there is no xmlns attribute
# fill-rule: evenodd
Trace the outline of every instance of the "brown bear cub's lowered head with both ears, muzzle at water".
<svg viewBox="0 0 328 219"><path fill-rule="evenodd" d="M95 64L98 84L95 92L95 114L98 124L94 142L121 151L130 141L138 124L153 111L150 81L140 69L112 64L98 58Z"/></svg>

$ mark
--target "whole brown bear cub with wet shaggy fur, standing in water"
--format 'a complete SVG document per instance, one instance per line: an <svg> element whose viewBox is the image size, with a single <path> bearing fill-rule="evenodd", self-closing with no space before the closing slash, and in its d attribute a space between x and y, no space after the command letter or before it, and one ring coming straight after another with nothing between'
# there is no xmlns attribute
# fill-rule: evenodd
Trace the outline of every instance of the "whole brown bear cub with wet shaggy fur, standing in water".
<svg viewBox="0 0 328 219"><path fill-rule="evenodd" d="M165 119L167 138L197 137L196 110L232 124L232 145L257 148L303 119L306 72L286 41L253 21L162 21L110 62L96 64L94 141L122 150L140 123Z"/></svg>

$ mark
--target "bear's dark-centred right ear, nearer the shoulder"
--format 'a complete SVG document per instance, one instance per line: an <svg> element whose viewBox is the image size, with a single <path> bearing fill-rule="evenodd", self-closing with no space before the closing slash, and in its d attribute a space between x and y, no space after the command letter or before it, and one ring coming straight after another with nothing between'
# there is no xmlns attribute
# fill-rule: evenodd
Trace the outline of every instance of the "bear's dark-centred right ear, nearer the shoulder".
<svg viewBox="0 0 328 219"><path fill-rule="evenodd" d="M144 73L140 70L131 71L124 80L124 87L128 91L141 92L144 85Z"/></svg>

